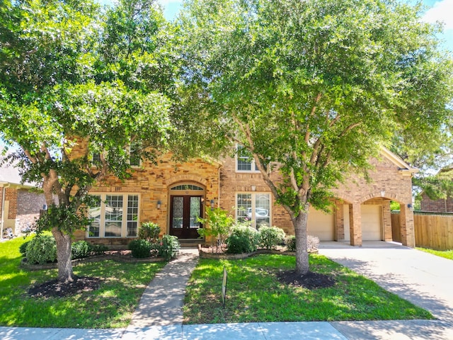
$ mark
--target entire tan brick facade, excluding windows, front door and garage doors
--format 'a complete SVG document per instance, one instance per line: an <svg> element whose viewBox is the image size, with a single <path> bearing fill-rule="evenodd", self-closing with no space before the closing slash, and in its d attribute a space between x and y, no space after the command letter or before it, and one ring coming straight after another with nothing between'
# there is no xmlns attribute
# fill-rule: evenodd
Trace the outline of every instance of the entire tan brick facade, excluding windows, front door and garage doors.
<svg viewBox="0 0 453 340"><path fill-rule="evenodd" d="M81 145L74 157L84 152L86 145ZM390 200L401 203L404 210L401 218L403 244L413 246L413 213L411 210L411 174L407 164L397 159L390 152L383 150L380 159L373 159L374 169L369 171L372 179L367 182L361 176L350 176L340 184L335 193L338 199L333 205L331 223L334 239L343 241L350 237L350 243L362 244L362 210L367 205L379 206L379 227L382 227L381 239L389 241L391 235ZM279 176L275 170L274 179ZM194 159L184 164L175 164L171 155L164 155L154 165L144 162L132 171L132 177L122 182L114 177L105 179L100 186L92 188L90 193L134 193L139 195L139 222L156 222L162 233L169 233L171 220L170 188L179 183L193 183L204 188L202 192L204 206L215 206L236 215L236 198L238 194L259 195L264 193L270 198L270 225L276 225L287 234L294 234L289 214L275 204L270 189L258 171L236 171L236 159L227 157L222 162L206 162ZM158 202L160 207L157 208ZM363 208L365 207L365 208ZM369 209L368 209L369 210ZM367 210L367 211L368 211ZM366 223L366 222L365 222ZM88 237L86 232L78 232L76 239L89 239L92 243L103 243L110 246L127 244L131 238L123 237Z"/></svg>

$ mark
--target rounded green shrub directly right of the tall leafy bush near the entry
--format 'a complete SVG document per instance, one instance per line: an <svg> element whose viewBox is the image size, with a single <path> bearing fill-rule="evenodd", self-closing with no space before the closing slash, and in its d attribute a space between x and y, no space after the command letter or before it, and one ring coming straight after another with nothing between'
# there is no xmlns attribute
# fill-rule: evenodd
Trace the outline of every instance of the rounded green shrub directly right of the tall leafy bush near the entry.
<svg viewBox="0 0 453 340"><path fill-rule="evenodd" d="M229 254L251 253L258 249L260 233L258 230L244 224L231 228L231 234L226 239L226 252Z"/></svg>

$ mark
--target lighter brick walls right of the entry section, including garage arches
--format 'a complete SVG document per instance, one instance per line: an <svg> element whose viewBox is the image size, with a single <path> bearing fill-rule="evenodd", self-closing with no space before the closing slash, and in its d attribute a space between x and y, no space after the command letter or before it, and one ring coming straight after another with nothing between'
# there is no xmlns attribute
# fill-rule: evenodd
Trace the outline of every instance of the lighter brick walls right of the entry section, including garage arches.
<svg viewBox="0 0 453 340"><path fill-rule="evenodd" d="M224 166L220 170L221 207L229 210L231 215L235 213L237 193L270 193L270 189L265 185L260 173L236 171L236 160L234 158L224 159L223 163ZM335 208L333 208L335 215L333 222L335 224L334 239L343 241L346 232L348 232L350 243L360 246L362 244L362 206L379 205L382 207L380 210L382 216L379 216L382 223L381 239L391 241L393 237L391 234L390 201L395 200L401 203L401 206L406 207L401 234L408 235L405 244L413 246L413 213L411 210L411 174L413 169L410 169L407 164L404 164L387 150L382 150L382 157L379 159L372 159L372 165L374 168L369 171L371 181L366 181L363 176L351 175L345 183L340 184L334 190L338 197L334 204ZM277 172L273 176L277 176ZM271 224L281 227L287 234L294 234L288 213L280 205L275 205L275 198L273 197L271 205ZM344 213L345 205L348 211L346 215ZM348 224L349 229L345 230L345 224Z"/></svg>

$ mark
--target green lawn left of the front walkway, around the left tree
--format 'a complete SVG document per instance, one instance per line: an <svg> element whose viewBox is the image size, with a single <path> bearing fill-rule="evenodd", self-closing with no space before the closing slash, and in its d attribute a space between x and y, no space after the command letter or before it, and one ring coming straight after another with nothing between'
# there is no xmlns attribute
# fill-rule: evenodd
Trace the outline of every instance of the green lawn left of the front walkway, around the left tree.
<svg viewBox="0 0 453 340"><path fill-rule="evenodd" d="M25 271L23 238L0 243L0 325L18 327L126 327L144 288L165 265L99 261L74 267L77 276L102 278L101 288L72 297L36 298L30 285L57 278L57 269Z"/></svg>

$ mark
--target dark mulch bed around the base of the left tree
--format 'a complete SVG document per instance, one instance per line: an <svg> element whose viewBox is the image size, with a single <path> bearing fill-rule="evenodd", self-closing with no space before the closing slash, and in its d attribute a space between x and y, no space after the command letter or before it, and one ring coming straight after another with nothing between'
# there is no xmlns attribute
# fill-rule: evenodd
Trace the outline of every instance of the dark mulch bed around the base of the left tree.
<svg viewBox="0 0 453 340"><path fill-rule="evenodd" d="M28 290L32 297L66 297L83 292L91 292L99 288L103 283L101 278L90 278L87 276L75 276L72 282L59 282L50 280L40 285L35 285Z"/></svg>

